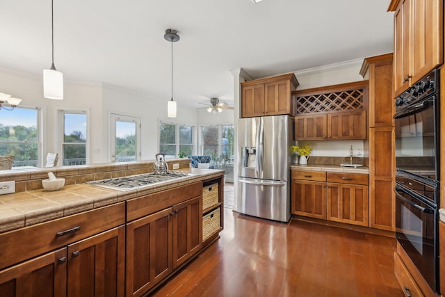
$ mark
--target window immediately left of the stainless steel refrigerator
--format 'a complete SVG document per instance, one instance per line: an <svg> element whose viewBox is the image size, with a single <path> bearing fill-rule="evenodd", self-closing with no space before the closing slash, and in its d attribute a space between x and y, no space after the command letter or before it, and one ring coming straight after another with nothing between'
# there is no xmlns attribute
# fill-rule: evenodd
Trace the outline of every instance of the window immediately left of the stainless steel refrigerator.
<svg viewBox="0 0 445 297"><path fill-rule="evenodd" d="M234 161L234 126L211 125L201 127L201 153L213 161L232 164Z"/></svg>

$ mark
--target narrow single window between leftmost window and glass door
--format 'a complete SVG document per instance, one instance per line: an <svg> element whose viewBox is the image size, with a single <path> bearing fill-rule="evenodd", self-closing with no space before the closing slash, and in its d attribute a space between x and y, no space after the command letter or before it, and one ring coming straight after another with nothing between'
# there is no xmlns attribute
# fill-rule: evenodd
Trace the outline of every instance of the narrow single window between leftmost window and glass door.
<svg viewBox="0 0 445 297"><path fill-rule="evenodd" d="M63 113L63 142L62 162L63 166L86 164L87 144L87 118L86 113Z"/></svg>

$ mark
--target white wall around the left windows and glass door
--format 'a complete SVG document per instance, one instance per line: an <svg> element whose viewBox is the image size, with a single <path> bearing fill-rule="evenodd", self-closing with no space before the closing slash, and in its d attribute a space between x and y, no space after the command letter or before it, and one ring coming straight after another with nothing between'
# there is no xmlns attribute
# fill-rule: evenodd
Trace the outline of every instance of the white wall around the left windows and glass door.
<svg viewBox="0 0 445 297"><path fill-rule="evenodd" d="M110 114L117 113L140 118L141 160L152 160L158 152L158 122L184 122L197 125L197 111L177 106L177 118L167 118L167 101L122 90L103 83L64 81L63 100L43 97L43 81L31 75L0 68L0 92L22 99L21 106L42 108L42 156L47 152L60 153L58 113L60 109L83 110L88 113L88 163L110 160Z"/></svg>

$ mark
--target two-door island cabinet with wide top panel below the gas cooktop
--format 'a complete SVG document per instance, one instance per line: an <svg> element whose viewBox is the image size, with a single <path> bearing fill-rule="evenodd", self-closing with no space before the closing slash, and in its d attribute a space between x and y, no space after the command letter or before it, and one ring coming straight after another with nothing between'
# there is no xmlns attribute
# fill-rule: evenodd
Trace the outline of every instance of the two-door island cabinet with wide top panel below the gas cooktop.
<svg viewBox="0 0 445 297"><path fill-rule="evenodd" d="M127 200L126 296L143 296L202 248L202 182Z"/></svg>

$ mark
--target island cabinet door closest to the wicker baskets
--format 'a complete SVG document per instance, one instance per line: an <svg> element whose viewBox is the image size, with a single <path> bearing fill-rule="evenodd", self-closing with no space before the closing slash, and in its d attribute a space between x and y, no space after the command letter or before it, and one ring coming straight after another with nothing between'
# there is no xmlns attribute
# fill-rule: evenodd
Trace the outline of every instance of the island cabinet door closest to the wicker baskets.
<svg viewBox="0 0 445 297"><path fill-rule="evenodd" d="M176 268L202 247L202 197L177 204L173 211L173 268Z"/></svg>

